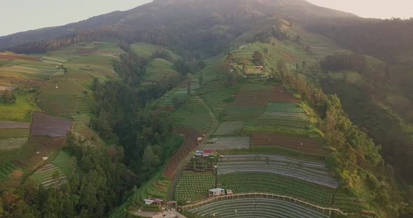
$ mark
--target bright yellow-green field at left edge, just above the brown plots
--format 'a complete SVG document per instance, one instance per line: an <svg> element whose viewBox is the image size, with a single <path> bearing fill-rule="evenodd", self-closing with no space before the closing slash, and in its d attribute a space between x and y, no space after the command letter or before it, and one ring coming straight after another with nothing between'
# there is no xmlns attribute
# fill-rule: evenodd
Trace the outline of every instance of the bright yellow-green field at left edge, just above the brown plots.
<svg viewBox="0 0 413 218"><path fill-rule="evenodd" d="M13 104L0 103L0 121L29 122L30 114L34 110L36 110L36 106L28 96L18 95Z"/></svg>

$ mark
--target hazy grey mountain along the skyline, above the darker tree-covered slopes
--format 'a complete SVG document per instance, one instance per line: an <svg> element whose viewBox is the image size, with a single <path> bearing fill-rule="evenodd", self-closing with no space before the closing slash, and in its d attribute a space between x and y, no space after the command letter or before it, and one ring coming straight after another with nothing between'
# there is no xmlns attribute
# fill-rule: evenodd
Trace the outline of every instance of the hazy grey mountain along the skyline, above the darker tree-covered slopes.
<svg viewBox="0 0 413 218"><path fill-rule="evenodd" d="M275 14L286 15L297 21L305 21L313 17L356 17L350 13L315 6L303 0L156 0L131 10L115 11L64 26L2 36L0 37L0 48L50 40L67 34L76 34L86 29L102 27L127 26L126 28L153 29L169 24L192 23L190 28L211 28L210 26L205 27L204 22L207 21L211 24L210 21L214 20L215 24L222 24L220 19L232 17L230 23L235 24L241 18L243 18L241 22L245 22L245 20L251 21L257 17ZM188 19L189 17L191 19Z"/></svg>

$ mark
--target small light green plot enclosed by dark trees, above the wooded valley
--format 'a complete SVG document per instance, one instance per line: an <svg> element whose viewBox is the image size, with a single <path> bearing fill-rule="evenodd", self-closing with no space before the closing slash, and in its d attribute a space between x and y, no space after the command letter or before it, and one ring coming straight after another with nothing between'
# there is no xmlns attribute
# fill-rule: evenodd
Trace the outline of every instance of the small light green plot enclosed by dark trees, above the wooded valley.
<svg viewBox="0 0 413 218"><path fill-rule="evenodd" d="M179 81L181 74L174 70L174 64L165 59L153 59L146 66L146 81L172 82Z"/></svg>

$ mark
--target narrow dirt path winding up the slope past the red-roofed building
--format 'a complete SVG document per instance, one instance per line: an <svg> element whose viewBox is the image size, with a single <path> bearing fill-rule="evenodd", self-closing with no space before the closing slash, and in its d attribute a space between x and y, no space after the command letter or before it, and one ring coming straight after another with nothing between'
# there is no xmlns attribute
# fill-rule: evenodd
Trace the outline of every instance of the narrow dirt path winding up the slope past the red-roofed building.
<svg viewBox="0 0 413 218"><path fill-rule="evenodd" d="M207 103L205 103L205 101L202 100L200 98L200 96L196 96L196 99L197 99L198 102L202 103L204 108L208 111L209 117L211 117L211 119L212 119L212 127L209 130L209 132L207 133L207 136L202 141L201 145L197 147L197 148L199 148L199 147L204 147L204 145L207 142L207 139L209 138L209 136L211 136L212 134L215 133L215 131L218 129L219 122L218 122L218 119L216 119L216 117L214 115L214 112L211 110L211 108L209 108ZM181 175L183 173L183 170L185 170L185 166L186 166L186 164L188 164L188 161L189 161L189 157L187 157L186 159L181 161L181 163L179 163L179 167L178 167L178 170L176 170L176 173L174 175L174 179L172 180L171 184L169 185L167 201L174 201L176 184L178 183L179 177L181 177Z"/></svg>

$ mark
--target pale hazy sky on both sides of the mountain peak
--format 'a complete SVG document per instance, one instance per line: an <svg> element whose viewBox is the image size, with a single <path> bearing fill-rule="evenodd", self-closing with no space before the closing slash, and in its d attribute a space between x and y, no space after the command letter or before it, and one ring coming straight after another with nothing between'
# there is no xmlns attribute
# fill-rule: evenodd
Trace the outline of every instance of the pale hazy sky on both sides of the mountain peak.
<svg viewBox="0 0 413 218"><path fill-rule="evenodd" d="M0 36L78 22L151 0L0 0ZM225 1L225 0L220 0ZM309 0L362 17L413 17L412 0ZM4 19L6 18L6 19Z"/></svg>

